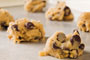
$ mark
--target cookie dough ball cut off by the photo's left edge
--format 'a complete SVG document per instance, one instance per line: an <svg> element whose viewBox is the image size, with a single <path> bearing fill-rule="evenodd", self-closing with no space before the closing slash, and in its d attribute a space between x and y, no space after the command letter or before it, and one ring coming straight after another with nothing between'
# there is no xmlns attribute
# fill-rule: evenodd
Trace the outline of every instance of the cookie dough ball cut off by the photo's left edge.
<svg viewBox="0 0 90 60"><path fill-rule="evenodd" d="M0 8L0 30L6 30L12 21L14 21L13 16L7 10Z"/></svg>

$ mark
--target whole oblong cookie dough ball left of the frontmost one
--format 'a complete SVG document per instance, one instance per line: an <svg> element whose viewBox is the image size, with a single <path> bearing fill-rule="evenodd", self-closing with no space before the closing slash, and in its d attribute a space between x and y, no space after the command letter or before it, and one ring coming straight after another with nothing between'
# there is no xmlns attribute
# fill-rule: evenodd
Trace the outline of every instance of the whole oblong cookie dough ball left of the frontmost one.
<svg viewBox="0 0 90 60"><path fill-rule="evenodd" d="M39 42L45 40L43 25L35 20L29 21L26 18L11 22L8 28L9 39L15 43L22 41Z"/></svg>

